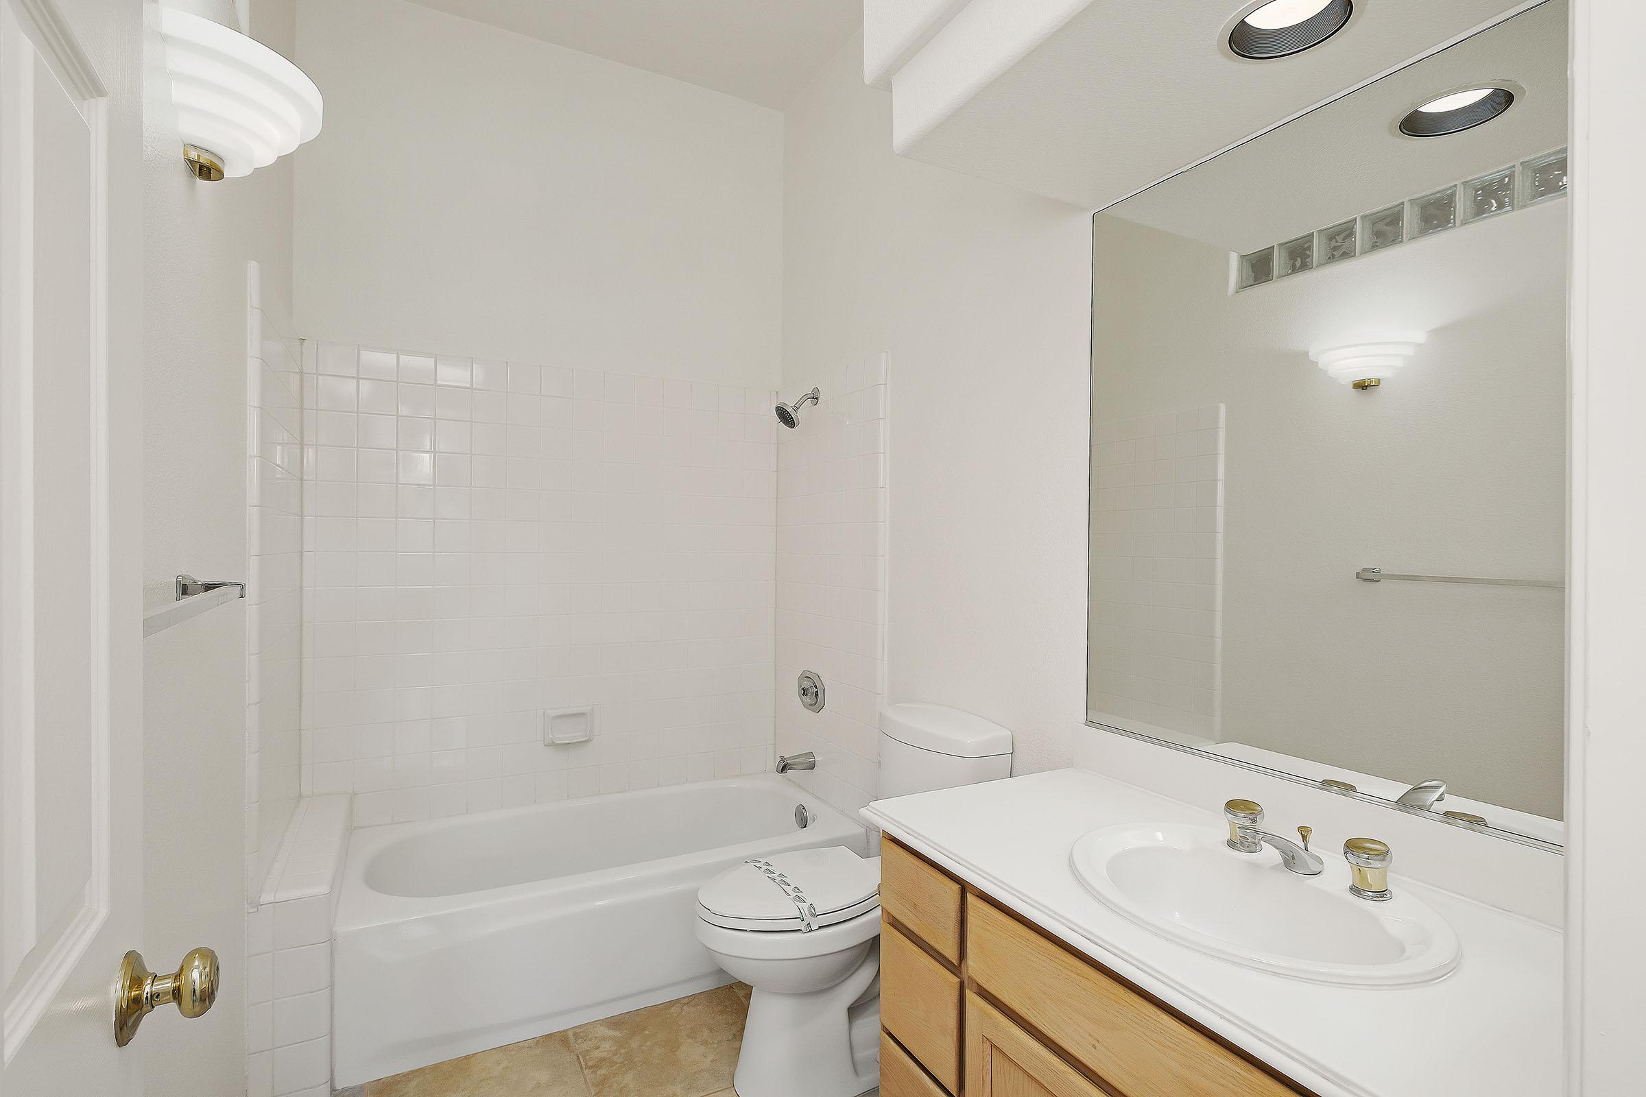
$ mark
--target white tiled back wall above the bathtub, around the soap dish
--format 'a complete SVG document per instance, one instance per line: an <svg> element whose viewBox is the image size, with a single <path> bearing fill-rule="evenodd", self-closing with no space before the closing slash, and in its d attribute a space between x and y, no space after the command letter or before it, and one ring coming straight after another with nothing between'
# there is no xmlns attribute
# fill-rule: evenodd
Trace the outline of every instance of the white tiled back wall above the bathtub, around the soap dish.
<svg viewBox="0 0 1646 1097"><path fill-rule="evenodd" d="M305 794L372 826L770 768L770 391L303 367ZM593 740L545 747L581 706Z"/></svg>

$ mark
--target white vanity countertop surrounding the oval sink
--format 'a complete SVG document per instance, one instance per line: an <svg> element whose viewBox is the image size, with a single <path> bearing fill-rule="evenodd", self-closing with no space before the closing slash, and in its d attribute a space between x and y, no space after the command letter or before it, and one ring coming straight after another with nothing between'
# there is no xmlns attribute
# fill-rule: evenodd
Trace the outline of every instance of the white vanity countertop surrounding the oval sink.
<svg viewBox="0 0 1646 1097"><path fill-rule="evenodd" d="M876 801L863 817L1320 1097L1554 1097L1560 933L1391 873L1457 931L1457 970L1360 988L1251 970L1111 911L1068 850L1119 822L1221 817L1085 770Z"/></svg>

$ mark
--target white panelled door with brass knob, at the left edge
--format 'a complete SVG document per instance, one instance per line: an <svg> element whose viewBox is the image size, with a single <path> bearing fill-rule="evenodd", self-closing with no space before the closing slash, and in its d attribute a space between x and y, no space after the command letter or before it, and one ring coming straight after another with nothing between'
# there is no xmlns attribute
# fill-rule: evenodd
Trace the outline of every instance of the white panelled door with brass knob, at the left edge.
<svg viewBox="0 0 1646 1097"><path fill-rule="evenodd" d="M0 0L5 1097L142 1092L140 1056L114 1038L143 832L142 15L120 8L140 5Z"/></svg>

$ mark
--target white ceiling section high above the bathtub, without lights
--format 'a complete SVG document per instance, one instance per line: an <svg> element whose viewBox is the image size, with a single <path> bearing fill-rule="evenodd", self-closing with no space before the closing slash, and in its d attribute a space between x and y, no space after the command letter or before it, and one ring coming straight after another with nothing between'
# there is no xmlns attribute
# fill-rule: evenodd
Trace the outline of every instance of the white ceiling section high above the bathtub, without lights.
<svg viewBox="0 0 1646 1097"><path fill-rule="evenodd" d="M783 109L863 23L863 0L412 0Z"/></svg>

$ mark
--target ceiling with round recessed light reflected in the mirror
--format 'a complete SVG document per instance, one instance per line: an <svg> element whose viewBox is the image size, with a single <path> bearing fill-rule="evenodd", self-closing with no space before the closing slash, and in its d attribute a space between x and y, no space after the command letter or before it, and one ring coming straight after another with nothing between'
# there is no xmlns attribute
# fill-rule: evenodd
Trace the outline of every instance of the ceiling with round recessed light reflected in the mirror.
<svg viewBox="0 0 1646 1097"><path fill-rule="evenodd" d="M1230 252L1253 252L1567 143L1565 0L1554 0L1108 211ZM1439 92L1513 81L1514 105L1463 133L1401 137Z"/></svg>

